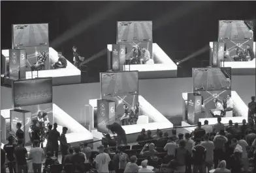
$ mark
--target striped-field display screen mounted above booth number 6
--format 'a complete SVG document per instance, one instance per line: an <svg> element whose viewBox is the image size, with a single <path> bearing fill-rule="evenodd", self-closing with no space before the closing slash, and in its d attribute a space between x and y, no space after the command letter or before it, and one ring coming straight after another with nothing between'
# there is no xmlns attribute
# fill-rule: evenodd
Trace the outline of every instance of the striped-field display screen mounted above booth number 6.
<svg viewBox="0 0 256 173"><path fill-rule="evenodd" d="M138 71L101 73L101 95L138 94Z"/></svg>

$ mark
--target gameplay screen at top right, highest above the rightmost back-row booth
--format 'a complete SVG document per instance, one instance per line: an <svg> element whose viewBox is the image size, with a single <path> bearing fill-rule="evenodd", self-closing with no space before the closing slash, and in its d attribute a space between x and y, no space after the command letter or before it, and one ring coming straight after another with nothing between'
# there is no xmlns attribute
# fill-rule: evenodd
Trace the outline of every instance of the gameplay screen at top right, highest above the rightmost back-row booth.
<svg viewBox="0 0 256 173"><path fill-rule="evenodd" d="M219 41L253 40L252 20L219 20Z"/></svg>

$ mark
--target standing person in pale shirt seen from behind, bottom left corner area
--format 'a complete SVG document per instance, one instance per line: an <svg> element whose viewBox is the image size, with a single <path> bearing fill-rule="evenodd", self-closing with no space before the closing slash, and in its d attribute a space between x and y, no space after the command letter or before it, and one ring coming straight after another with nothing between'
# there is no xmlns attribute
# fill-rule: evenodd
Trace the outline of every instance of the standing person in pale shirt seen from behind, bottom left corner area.
<svg viewBox="0 0 256 173"><path fill-rule="evenodd" d="M34 146L35 147L30 150L29 159L32 159L34 172L41 173L44 150L39 147L39 140L34 140Z"/></svg>

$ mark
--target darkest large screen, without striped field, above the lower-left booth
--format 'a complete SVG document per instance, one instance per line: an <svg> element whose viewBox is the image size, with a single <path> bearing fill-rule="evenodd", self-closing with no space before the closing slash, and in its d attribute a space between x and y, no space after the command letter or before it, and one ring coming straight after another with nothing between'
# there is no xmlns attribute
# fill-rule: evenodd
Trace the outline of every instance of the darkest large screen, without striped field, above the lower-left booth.
<svg viewBox="0 0 256 173"><path fill-rule="evenodd" d="M13 81L14 107L52 103L52 77Z"/></svg>

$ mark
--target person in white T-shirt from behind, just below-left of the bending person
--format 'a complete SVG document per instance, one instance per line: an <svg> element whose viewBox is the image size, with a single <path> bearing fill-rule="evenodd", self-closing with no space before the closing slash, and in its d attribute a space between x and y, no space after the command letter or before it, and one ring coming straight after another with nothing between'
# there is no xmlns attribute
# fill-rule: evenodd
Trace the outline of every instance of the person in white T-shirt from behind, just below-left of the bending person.
<svg viewBox="0 0 256 173"><path fill-rule="evenodd" d="M110 156L107 153L104 153L104 146L100 145L98 147L99 154L95 157L95 166L99 173L109 172L108 165L111 161Z"/></svg>

